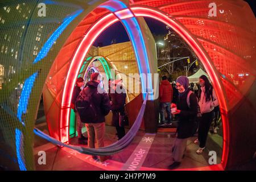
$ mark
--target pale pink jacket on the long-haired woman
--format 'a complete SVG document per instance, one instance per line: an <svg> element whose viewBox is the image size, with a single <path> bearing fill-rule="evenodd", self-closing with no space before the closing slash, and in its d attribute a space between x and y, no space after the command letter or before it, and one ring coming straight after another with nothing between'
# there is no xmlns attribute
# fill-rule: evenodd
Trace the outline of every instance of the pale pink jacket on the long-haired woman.
<svg viewBox="0 0 256 182"><path fill-rule="evenodd" d="M202 114L209 113L214 109L214 107L218 106L218 99L214 89L212 90L212 97L210 98L210 101L206 102L205 86L201 87L199 106Z"/></svg>

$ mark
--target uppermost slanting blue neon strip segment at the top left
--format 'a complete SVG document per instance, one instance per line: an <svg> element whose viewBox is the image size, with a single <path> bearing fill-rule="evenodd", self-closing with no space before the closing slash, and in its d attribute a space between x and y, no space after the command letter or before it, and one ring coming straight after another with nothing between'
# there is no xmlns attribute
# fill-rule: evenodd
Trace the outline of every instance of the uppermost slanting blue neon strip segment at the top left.
<svg viewBox="0 0 256 182"><path fill-rule="evenodd" d="M38 63L38 61L42 60L44 57L47 56L49 50L51 49L55 41L59 38L59 36L62 34L62 32L65 30L65 28L67 28L69 23L71 23L80 13L82 13L82 11L83 10L77 10L72 15L63 19L63 23L57 28L55 32L53 32L53 34L50 36L50 38L47 40L47 42L38 53L38 56L36 56L36 59L33 63Z"/></svg>

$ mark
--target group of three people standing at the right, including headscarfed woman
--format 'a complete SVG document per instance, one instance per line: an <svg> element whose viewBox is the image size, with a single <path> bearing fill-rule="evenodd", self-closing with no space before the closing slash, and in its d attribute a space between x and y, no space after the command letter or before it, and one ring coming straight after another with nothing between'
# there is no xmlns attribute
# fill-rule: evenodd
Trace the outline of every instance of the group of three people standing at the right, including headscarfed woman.
<svg viewBox="0 0 256 182"><path fill-rule="evenodd" d="M194 143L199 144L196 154L201 154L205 149L213 121L213 133L217 133L220 113L218 100L213 86L205 75L199 78L199 84L189 84L185 76L178 77L176 82L171 84L167 81L167 77L163 76L159 87L159 97L160 126L171 125L172 115L177 118L176 138L172 145L173 160L169 166L174 169L181 164L188 138L197 132L198 137ZM164 117L165 111L167 118Z"/></svg>

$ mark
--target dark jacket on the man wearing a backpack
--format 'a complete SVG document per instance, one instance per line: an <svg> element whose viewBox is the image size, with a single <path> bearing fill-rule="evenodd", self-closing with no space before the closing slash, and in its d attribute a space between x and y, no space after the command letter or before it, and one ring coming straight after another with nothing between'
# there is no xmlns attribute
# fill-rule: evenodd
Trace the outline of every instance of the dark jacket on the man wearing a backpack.
<svg viewBox="0 0 256 182"><path fill-rule="evenodd" d="M94 123L101 123L105 122L105 115L109 114L110 111L110 101L109 101L109 96L105 92L105 90L101 89L100 93L98 92L98 82L97 81L89 81L86 84L86 87L80 92L82 95L91 95L92 94L92 99L91 101L93 102L93 105L95 106L97 115L98 115L98 121Z"/></svg>

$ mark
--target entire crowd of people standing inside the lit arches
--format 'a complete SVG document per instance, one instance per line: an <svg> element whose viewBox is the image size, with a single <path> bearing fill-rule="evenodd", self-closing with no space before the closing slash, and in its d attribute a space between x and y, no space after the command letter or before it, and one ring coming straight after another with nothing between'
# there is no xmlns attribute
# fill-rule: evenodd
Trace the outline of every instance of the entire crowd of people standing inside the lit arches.
<svg viewBox="0 0 256 182"><path fill-rule="evenodd" d="M112 110L112 123L117 131L118 140L124 137L125 127L121 121L125 115L126 93L117 92L117 88L123 89L122 81L110 79L109 93L105 90L102 93L98 92L98 84L100 84L99 73L92 73L90 81L86 83L84 89L81 89L83 84L84 80L77 78L71 104L76 113L79 143L88 143L90 148L104 147L105 116L109 114L110 110ZM82 100L89 98L91 113L97 119L85 122L84 119L80 118L80 114L77 111L77 108L80 107L76 107L79 97ZM213 121L213 132L217 133L217 122L220 117L218 100L213 86L204 75L199 78L199 84L189 84L189 80L185 76L178 77L176 82L171 84L167 80L167 76L163 76L159 87L159 99L160 125L172 125L172 119L177 119L176 138L172 145L173 160L169 166L169 168L173 169L181 164L188 138L197 132L198 137L194 143L199 144L196 153L201 154L205 149L208 131ZM167 113L167 118L165 113ZM85 123L88 138L82 134L83 123ZM92 157L93 159L98 159L98 156ZM108 159L108 156L100 156L101 162L106 159Z"/></svg>

